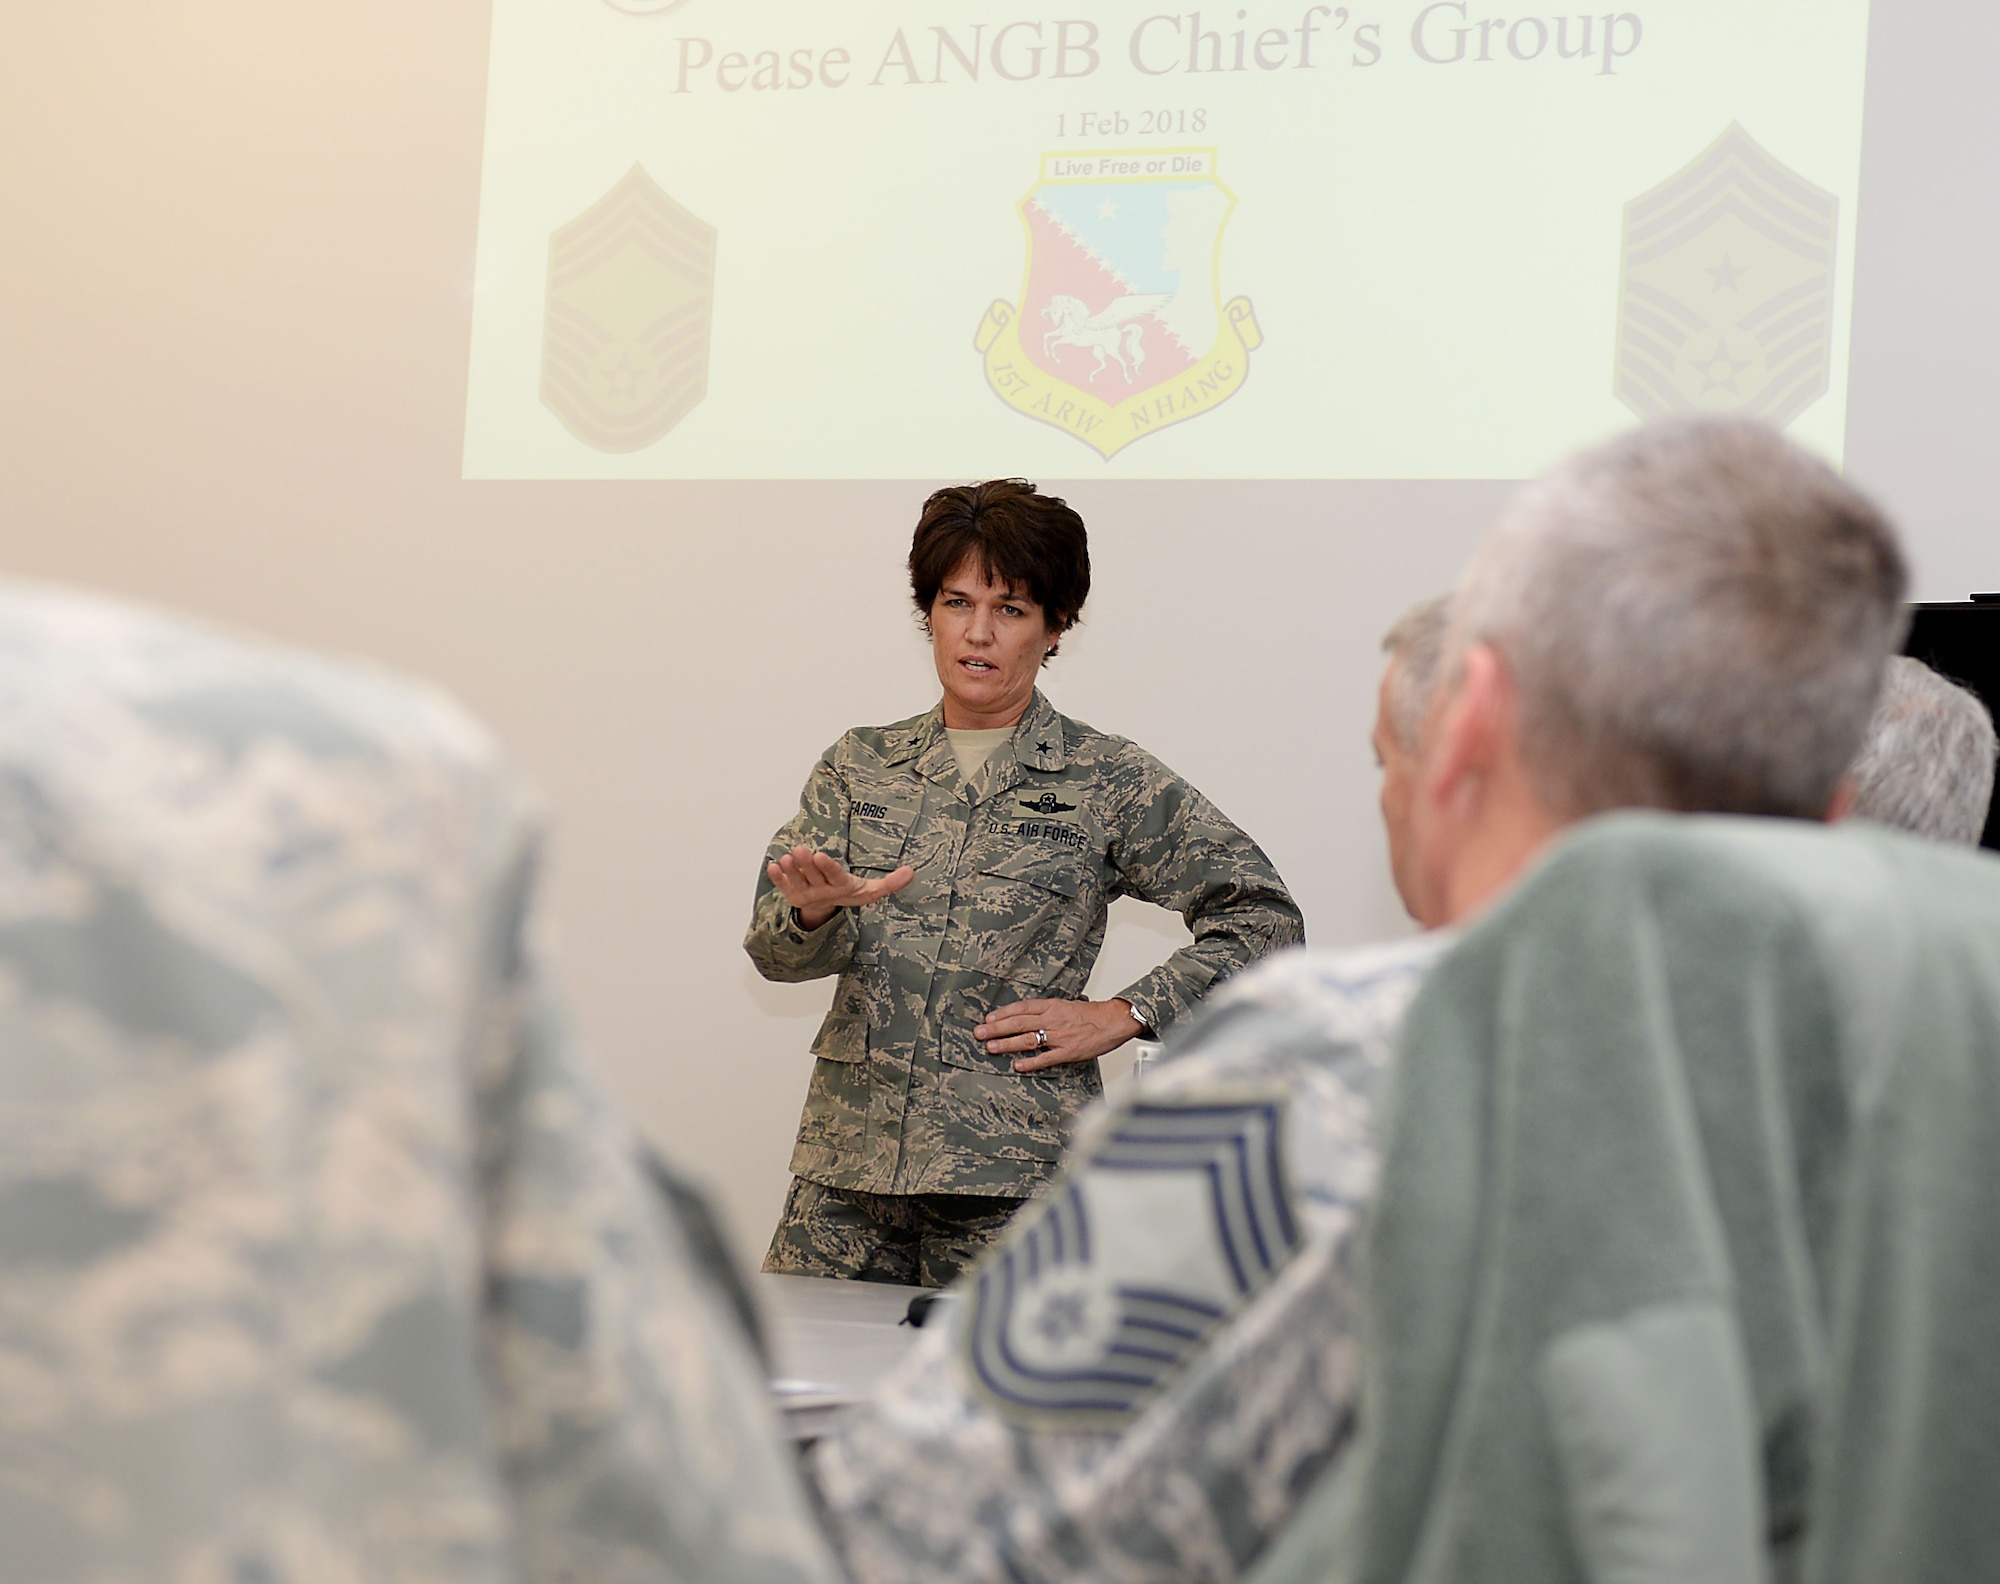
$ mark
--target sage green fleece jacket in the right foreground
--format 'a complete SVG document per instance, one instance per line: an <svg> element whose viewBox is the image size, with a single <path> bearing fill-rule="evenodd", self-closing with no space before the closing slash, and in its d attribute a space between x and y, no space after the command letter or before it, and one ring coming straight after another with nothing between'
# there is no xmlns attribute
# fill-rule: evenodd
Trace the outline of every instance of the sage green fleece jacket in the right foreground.
<svg viewBox="0 0 2000 1584"><path fill-rule="evenodd" d="M1356 1578L2000 1578L2000 862L1592 820L1386 1150Z"/></svg>

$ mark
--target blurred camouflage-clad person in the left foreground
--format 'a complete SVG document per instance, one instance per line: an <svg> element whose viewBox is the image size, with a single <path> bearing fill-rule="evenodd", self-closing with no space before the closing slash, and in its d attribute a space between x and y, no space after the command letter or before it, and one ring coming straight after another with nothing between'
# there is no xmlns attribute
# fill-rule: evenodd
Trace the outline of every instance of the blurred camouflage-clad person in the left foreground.
<svg viewBox="0 0 2000 1584"><path fill-rule="evenodd" d="M0 588L0 1576L832 1584L434 694Z"/></svg>

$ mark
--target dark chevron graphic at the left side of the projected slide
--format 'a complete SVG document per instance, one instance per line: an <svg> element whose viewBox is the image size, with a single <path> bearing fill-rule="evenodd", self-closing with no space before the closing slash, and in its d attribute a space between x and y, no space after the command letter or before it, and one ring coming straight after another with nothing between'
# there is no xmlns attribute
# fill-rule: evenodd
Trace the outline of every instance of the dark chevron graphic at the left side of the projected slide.
<svg viewBox="0 0 2000 1584"><path fill-rule="evenodd" d="M548 238L542 406L602 452L650 446L708 394L716 232L632 166Z"/></svg>

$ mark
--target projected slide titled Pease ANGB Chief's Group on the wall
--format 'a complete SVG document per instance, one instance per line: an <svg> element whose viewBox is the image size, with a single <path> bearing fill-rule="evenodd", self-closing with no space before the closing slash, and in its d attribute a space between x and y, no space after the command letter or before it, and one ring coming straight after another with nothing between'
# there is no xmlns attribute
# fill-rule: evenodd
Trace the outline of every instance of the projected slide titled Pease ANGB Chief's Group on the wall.
<svg viewBox="0 0 2000 1584"><path fill-rule="evenodd" d="M1838 458L1866 0L494 0L468 478Z"/></svg>

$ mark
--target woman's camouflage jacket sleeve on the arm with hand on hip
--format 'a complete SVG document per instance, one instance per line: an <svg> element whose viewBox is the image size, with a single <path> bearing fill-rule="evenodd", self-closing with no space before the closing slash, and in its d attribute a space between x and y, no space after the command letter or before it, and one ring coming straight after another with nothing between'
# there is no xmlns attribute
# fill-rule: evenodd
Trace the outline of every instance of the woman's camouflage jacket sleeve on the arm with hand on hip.
<svg viewBox="0 0 2000 1584"><path fill-rule="evenodd" d="M1194 940L1118 998L1166 1034L1218 980L1300 944L1306 922L1256 842L1156 758L1130 752L1138 770L1124 778L1130 814L1110 854L1114 894L1172 908Z"/></svg>

